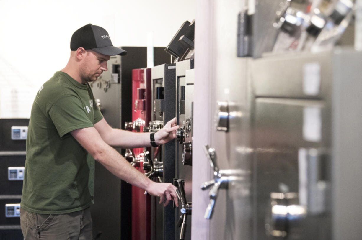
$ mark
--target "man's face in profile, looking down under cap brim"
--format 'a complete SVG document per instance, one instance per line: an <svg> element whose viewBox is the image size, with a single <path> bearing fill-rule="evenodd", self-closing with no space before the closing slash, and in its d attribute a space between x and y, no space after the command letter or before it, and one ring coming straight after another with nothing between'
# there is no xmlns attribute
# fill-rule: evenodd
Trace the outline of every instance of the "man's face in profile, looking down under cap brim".
<svg viewBox="0 0 362 240"><path fill-rule="evenodd" d="M82 83L94 82L102 74L107 71L107 61L110 56L94 52L93 50L86 50L85 58L80 68L80 77Z"/></svg>

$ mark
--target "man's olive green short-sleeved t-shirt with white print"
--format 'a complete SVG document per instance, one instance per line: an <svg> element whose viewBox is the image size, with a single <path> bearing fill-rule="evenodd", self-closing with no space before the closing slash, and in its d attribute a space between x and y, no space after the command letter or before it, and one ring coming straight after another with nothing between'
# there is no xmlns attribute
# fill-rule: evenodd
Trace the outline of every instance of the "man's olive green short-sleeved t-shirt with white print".
<svg viewBox="0 0 362 240"><path fill-rule="evenodd" d="M93 203L94 159L70 132L102 118L88 83L59 71L41 86L26 139L22 208L62 214Z"/></svg>

